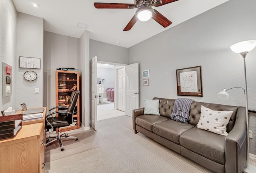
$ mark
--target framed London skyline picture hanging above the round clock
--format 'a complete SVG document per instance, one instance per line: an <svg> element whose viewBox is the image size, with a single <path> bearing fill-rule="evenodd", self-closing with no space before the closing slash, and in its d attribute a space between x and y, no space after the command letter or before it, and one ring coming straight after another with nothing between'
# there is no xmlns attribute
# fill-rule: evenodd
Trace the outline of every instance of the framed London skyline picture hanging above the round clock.
<svg viewBox="0 0 256 173"><path fill-rule="evenodd" d="M20 68L36 68L40 69L40 58L31 58L20 56Z"/></svg>

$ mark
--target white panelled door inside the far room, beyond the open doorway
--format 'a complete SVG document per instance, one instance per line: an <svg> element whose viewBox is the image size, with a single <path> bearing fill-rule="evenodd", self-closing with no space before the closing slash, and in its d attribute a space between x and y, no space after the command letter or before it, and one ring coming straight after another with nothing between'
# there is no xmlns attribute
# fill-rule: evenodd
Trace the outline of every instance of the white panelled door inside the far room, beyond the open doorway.
<svg viewBox="0 0 256 173"><path fill-rule="evenodd" d="M125 109L125 70L124 67L117 70L117 109Z"/></svg>

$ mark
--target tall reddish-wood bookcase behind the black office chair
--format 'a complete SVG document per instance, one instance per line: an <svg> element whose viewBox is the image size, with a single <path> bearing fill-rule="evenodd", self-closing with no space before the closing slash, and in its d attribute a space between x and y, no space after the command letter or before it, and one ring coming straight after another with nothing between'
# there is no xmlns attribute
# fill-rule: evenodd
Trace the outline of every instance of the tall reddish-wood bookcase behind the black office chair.
<svg viewBox="0 0 256 173"><path fill-rule="evenodd" d="M70 103L70 95L74 90L79 91L79 72L76 71L56 71L56 106L62 105L68 107ZM69 131L79 129L80 127L80 114L79 114L79 98L76 103L76 108L73 116L73 123L68 127L60 128L60 131ZM61 110L60 108L56 111ZM66 109L65 109L66 110ZM56 116L61 116L57 114ZM58 131L58 129L56 130Z"/></svg>

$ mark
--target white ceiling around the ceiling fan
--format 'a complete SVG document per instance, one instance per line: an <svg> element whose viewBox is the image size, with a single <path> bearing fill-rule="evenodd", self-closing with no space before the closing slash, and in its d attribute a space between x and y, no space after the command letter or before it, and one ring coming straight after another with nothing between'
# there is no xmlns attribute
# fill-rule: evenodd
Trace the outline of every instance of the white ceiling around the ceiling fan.
<svg viewBox="0 0 256 173"><path fill-rule="evenodd" d="M94 2L128 3L133 0L12 0L18 12L44 18L44 29L65 36L80 38L84 28L78 22L89 25L90 39L116 44L125 48L146 40L164 30L180 24L198 14L228 0L178 0L160 7L153 7L172 21L163 28L153 19L138 21L130 31L123 31L136 12L135 9L96 9ZM35 8L30 1L40 4Z"/></svg>

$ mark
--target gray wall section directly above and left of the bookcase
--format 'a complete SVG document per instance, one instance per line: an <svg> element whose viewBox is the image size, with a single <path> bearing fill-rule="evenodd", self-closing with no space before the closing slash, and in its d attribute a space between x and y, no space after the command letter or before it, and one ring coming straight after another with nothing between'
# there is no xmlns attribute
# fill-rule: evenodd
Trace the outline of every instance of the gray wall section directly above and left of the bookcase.
<svg viewBox="0 0 256 173"><path fill-rule="evenodd" d="M78 68L79 39L52 32L44 32L44 105L56 106L56 68Z"/></svg>

